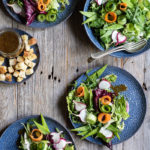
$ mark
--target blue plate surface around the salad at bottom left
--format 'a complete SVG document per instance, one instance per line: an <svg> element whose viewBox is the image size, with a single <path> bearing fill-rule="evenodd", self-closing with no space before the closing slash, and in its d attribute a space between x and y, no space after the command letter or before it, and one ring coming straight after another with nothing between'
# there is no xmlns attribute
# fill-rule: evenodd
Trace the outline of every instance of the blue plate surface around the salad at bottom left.
<svg viewBox="0 0 150 150"><path fill-rule="evenodd" d="M10 125L2 134L0 138L0 150L18 150L17 148L17 140L19 139L19 134L18 131L23 129L23 126L21 123L26 123L27 120L31 118L37 118L39 116L30 116L30 117L25 117L21 120L18 120L14 122L12 125ZM56 128L59 130L63 131L65 135L65 139L67 141L71 141L73 145L75 146L75 143L73 141L73 138L69 131L63 127L60 123L58 123L56 120L49 118L49 117L44 117L46 120L46 123L50 129L50 131L55 131ZM76 148L75 148L76 150Z"/></svg>

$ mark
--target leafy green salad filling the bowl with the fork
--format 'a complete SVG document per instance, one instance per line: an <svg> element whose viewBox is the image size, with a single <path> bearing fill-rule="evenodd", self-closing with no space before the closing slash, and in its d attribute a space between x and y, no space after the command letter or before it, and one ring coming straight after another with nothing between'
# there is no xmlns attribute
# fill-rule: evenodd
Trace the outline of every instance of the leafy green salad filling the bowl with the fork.
<svg viewBox="0 0 150 150"><path fill-rule="evenodd" d="M92 0L81 14L105 49L150 38L149 0Z"/></svg>

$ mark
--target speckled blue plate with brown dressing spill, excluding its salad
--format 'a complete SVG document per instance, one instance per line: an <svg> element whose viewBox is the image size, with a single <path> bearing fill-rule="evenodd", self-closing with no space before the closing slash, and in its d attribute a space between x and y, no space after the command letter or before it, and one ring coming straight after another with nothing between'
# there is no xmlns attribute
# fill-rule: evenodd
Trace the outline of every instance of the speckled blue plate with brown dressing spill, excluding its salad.
<svg viewBox="0 0 150 150"><path fill-rule="evenodd" d="M93 69L91 72L88 73L88 75L93 74L100 68L101 67ZM108 66L105 72L101 75L101 77L112 73L117 75L118 77L117 81L113 85L125 84L128 87L128 90L122 92L122 94L127 97L130 105L130 118L125 121L125 129L119 134L120 140L118 140L117 137L112 140L112 144L118 144L133 136L142 125L146 114L146 98L139 82L125 70L122 70L118 67ZM77 79L77 86L79 86L85 80L86 76L83 74ZM74 128L80 126L80 124L75 124L73 122L72 125ZM87 140L95 144L102 144L100 139L95 139L93 137L88 137Z"/></svg>

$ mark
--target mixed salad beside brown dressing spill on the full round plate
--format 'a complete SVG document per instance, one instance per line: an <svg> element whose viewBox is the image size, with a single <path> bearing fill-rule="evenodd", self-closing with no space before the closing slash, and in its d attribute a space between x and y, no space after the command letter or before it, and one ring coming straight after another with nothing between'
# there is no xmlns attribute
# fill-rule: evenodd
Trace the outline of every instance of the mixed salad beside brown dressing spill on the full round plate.
<svg viewBox="0 0 150 150"><path fill-rule="evenodd" d="M117 76L109 74L99 78L107 65L87 76L80 86L73 86L67 96L69 117L79 128L72 129L82 136L100 138L111 148L111 141L124 129L124 120L129 117L129 103L120 92L127 87L123 84L113 86Z"/></svg>

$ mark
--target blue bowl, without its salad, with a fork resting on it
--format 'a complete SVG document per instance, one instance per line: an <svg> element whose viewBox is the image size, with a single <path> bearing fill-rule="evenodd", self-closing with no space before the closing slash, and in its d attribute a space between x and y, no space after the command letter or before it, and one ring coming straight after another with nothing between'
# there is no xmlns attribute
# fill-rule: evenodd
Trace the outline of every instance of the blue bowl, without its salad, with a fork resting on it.
<svg viewBox="0 0 150 150"><path fill-rule="evenodd" d="M84 11L88 11L88 8L89 8L89 5L90 5L90 2L91 0L86 0L86 3L84 5ZM86 20L86 17L84 16L83 17L83 21ZM99 43L98 39L94 36L93 34L93 31L88 27L87 24L84 24L84 27L85 27L85 30L86 30L86 33L89 37L89 39L92 41L92 43L101 51L104 51L104 48L101 46L101 44ZM148 40L147 42L147 45L141 49L140 51L136 52L136 53L128 53L126 51L121 51L121 52L116 52L116 53L113 53L113 54L110 54L111 56L114 56L114 57L122 57L122 58L125 58L125 57L133 57L133 56L137 56L139 54L142 54L143 52L149 50L150 48L150 40Z"/></svg>

